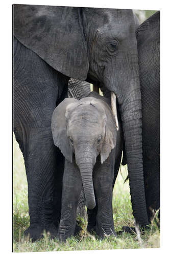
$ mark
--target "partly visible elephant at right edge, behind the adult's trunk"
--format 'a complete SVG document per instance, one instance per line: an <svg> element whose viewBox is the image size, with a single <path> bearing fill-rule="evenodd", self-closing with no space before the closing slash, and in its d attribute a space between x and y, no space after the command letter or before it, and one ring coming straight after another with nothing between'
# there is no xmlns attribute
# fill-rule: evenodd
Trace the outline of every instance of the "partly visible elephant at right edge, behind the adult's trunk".
<svg viewBox="0 0 170 256"><path fill-rule="evenodd" d="M160 12L136 30L142 102L143 173L149 221L160 208Z"/></svg>

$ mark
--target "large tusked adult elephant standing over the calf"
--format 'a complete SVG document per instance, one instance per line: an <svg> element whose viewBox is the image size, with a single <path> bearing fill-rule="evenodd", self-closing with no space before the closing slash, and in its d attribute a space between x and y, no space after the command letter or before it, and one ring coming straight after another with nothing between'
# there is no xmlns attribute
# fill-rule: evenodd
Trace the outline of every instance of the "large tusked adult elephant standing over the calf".
<svg viewBox="0 0 170 256"><path fill-rule="evenodd" d="M144 197L141 94L132 10L14 5L14 132L25 159L33 240L56 236L64 158L51 117L69 77L101 82L119 104L133 215L148 224ZM55 187L55 188L54 188Z"/></svg>

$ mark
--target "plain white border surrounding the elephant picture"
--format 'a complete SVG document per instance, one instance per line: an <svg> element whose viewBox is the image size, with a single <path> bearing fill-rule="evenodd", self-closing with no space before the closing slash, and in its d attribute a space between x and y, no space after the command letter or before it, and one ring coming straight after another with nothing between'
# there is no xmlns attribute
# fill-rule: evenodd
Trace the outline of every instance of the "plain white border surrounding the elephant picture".
<svg viewBox="0 0 170 256"><path fill-rule="evenodd" d="M12 4L39 4L39 5L58 5L58 6L83 6L83 7L103 7L103 8L122 8L122 9L143 9L143 10L161 10L161 248L160 249L126 249L126 250L106 250L106 251L69 251L69 252L45 252L57 253L57 255L99 255L107 253L108 255L143 255L160 254L169 251L169 169L168 169L168 151L169 151L169 6L168 2L142 0L142 1L107 1L99 3L99 0L83 1L52 1L52 0L22 0L1 2L1 253L12 254L12 179L11 179L11 110L12 110L12 89L11 89L11 10ZM3 142L3 143L2 143ZM168 208L167 208L168 206ZM42 252L34 252L39 254ZM44 253L44 252L43 252ZM30 255L25 252L23 255Z"/></svg>

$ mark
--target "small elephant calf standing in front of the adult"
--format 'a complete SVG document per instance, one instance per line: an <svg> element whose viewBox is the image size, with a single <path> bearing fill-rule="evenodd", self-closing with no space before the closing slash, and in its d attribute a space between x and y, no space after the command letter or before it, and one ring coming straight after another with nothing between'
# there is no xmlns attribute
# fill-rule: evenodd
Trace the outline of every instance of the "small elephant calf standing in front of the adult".
<svg viewBox="0 0 170 256"><path fill-rule="evenodd" d="M52 116L54 144L65 156L62 211L58 236L74 235L76 210L83 186L88 227L99 237L113 234L112 191L122 155L122 127L107 99L90 93L81 100L65 98ZM74 154L73 154L74 153Z"/></svg>

